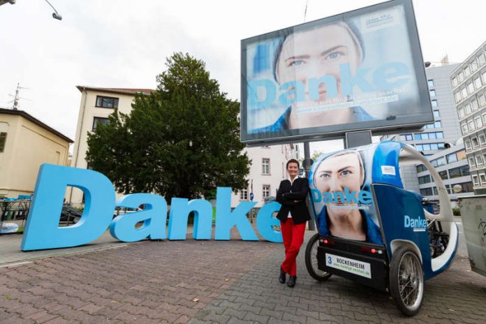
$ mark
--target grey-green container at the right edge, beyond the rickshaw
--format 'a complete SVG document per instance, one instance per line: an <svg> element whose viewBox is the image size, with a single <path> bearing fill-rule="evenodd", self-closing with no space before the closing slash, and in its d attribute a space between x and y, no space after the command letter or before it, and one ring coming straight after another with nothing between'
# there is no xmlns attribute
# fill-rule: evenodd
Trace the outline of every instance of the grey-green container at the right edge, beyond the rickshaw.
<svg viewBox="0 0 486 324"><path fill-rule="evenodd" d="M471 270L486 276L486 195L457 199Z"/></svg>

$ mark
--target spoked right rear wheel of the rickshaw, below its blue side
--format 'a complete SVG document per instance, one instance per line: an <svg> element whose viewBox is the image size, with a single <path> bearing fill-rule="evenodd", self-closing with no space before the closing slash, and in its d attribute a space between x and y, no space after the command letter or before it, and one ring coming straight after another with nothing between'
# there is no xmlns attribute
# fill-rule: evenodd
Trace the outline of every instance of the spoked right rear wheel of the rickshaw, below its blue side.
<svg viewBox="0 0 486 324"><path fill-rule="evenodd" d="M390 294L406 316L414 316L422 306L424 272L417 254L408 246L400 246L390 263Z"/></svg>

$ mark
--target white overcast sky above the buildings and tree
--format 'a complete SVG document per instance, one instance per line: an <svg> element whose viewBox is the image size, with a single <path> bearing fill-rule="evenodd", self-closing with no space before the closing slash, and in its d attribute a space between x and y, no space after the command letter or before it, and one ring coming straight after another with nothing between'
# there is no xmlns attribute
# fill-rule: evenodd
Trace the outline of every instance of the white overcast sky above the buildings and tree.
<svg viewBox="0 0 486 324"><path fill-rule="evenodd" d="M0 107L21 87L20 109L74 139L76 85L155 88L165 57L206 62L230 98L240 99L240 40L381 1L44 0L0 6ZM415 0L422 54L461 62L485 40L484 0ZM304 11L307 5L307 15ZM313 145L314 149L335 147Z"/></svg>

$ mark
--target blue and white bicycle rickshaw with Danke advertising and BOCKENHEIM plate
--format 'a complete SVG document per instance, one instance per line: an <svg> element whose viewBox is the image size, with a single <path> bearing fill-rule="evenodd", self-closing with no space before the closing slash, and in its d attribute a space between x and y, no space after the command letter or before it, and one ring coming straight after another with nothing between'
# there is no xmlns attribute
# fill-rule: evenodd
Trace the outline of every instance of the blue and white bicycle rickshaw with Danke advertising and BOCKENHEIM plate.
<svg viewBox="0 0 486 324"><path fill-rule="evenodd" d="M425 165L440 213L406 191L399 167ZM418 313L424 281L446 270L457 249L457 225L439 174L413 147L400 142L324 154L309 173L318 234L305 252L311 277L332 274L388 292L406 316Z"/></svg>

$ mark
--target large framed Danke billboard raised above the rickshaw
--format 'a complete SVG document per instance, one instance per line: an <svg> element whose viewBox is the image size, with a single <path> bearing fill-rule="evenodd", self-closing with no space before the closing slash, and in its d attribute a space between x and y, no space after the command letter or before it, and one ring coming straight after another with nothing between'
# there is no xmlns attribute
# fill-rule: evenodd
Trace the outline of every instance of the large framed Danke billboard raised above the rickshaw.
<svg viewBox="0 0 486 324"><path fill-rule="evenodd" d="M434 121L411 0L242 40L241 139L341 138Z"/></svg>

